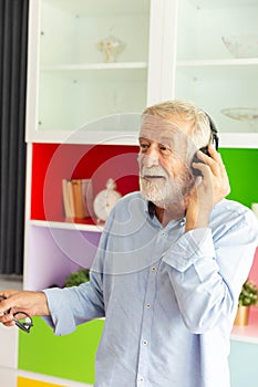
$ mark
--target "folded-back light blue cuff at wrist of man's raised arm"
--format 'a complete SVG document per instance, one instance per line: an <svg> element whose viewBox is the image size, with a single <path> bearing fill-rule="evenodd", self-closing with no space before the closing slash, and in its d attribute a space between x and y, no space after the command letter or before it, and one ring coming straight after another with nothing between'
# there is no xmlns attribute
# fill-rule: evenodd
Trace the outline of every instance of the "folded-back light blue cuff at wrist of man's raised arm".
<svg viewBox="0 0 258 387"><path fill-rule="evenodd" d="M210 229L198 228L184 233L178 241L166 251L163 261L177 271L184 272L204 257L215 257L213 236Z"/></svg>

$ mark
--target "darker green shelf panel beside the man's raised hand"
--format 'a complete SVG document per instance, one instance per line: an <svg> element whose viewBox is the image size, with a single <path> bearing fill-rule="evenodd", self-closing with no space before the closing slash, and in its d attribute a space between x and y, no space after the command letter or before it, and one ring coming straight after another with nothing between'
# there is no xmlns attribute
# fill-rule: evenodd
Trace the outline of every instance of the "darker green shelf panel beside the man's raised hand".
<svg viewBox="0 0 258 387"><path fill-rule="evenodd" d="M258 202L258 149L220 148L219 153L230 180L228 199L247 207Z"/></svg>

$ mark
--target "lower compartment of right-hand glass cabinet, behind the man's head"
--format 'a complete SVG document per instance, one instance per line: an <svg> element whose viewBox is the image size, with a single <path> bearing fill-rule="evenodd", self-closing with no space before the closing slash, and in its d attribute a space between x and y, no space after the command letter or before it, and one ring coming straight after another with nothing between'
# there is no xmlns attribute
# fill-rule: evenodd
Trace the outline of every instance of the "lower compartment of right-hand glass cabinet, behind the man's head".
<svg viewBox="0 0 258 387"><path fill-rule="evenodd" d="M257 107L258 65L239 64L231 66L224 62L219 62L219 65L214 64L214 62L203 62L199 65L197 63L187 62L187 64L177 67L176 97L194 101L214 119L216 117L215 122L219 133L256 134L255 144L257 145L258 122L249 123L233 119L225 116L221 111L230 107ZM255 86L256 83L257 86ZM227 84L226 88L225 84ZM219 98L215 98L215 95L219 95ZM230 139L231 146L234 146L233 136Z"/></svg>

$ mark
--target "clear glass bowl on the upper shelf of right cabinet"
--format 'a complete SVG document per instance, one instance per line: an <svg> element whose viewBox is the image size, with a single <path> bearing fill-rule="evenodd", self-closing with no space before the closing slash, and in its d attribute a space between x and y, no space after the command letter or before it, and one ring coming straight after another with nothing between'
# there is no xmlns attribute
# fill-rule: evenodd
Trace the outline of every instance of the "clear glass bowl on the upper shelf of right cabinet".
<svg viewBox="0 0 258 387"><path fill-rule="evenodd" d="M257 35L221 36L221 40L235 57L258 57Z"/></svg>

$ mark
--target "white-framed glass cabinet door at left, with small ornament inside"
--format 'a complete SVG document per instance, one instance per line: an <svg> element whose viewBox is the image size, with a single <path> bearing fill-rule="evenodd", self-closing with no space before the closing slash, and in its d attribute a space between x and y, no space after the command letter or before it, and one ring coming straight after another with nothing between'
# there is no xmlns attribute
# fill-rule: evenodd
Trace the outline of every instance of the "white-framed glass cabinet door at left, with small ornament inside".
<svg viewBox="0 0 258 387"><path fill-rule="evenodd" d="M31 1L27 140L100 142L106 117L124 114L133 116L130 129L121 122L113 129L136 132L135 115L172 97L174 8L171 0ZM87 138L85 130L71 137L100 119Z"/></svg>

